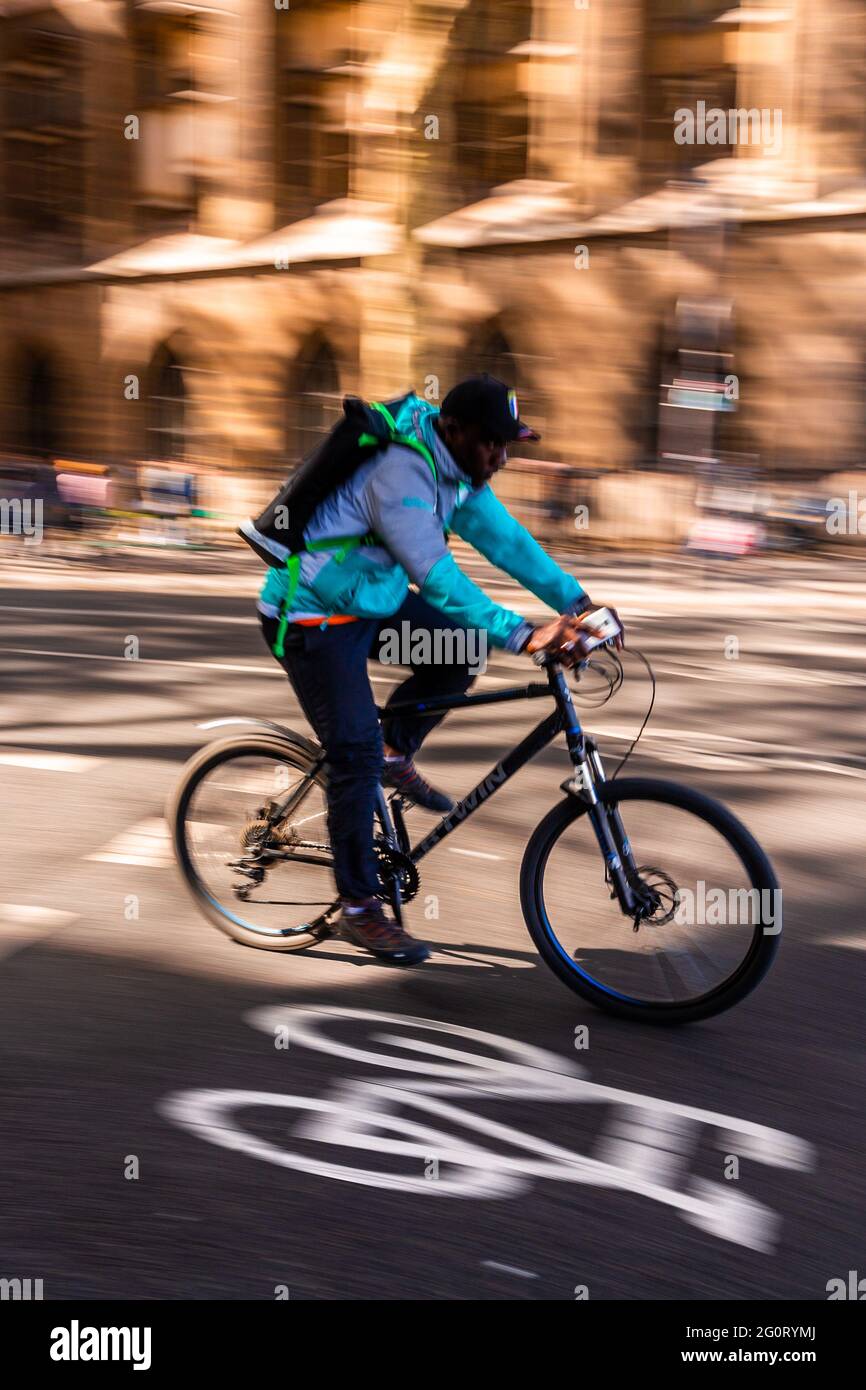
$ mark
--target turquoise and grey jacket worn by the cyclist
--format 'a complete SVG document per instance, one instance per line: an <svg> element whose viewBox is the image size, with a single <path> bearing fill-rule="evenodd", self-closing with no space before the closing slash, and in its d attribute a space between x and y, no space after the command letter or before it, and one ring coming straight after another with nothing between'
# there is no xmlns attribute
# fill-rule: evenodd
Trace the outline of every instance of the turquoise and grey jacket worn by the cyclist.
<svg viewBox="0 0 866 1390"><path fill-rule="evenodd" d="M409 584L463 627L484 628L493 646L523 651L534 624L495 603L460 570L446 531L468 541L492 564L535 594L555 613L580 613L589 600L496 498L489 484L473 488L434 430L438 410L411 396L398 430L431 450L430 463L406 445L389 445L327 498L304 531L307 543L374 534L377 545L306 552L289 621L349 613L389 617ZM335 546L336 549L336 546ZM270 570L259 609L278 616L286 595L285 570Z"/></svg>

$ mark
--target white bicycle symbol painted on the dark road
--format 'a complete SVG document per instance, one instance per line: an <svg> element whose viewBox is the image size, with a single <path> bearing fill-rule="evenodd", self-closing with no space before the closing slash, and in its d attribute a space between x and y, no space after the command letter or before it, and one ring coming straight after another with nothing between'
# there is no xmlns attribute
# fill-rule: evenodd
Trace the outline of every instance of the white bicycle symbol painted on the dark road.
<svg viewBox="0 0 866 1390"><path fill-rule="evenodd" d="M596 1086L585 1079L585 1069L570 1059L495 1033L402 1013L342 1008L261 1008L245 1019L275 1038L288 1038L291 1048L307 1047L399 1073L378 1081L339 1081L321 1098L272 1091L193 1090L168 1095L158 1105L160 1113L199 1138L317 1177L424 1197L474 1198L517 1197L531 1188L534 1179L585 1183L637 1193L673 1207L684 1220L712 1236L771 1252L778 1236L778 1215L744 1194L738 1180L712 1182L689 1175L689 1159L699 1144L709 1141L716 1150L719 1172L733 1156L781 1169L813 1166L812 1145L794 1134L652 1095ZM399 1051L370 1051L325 1031L328 1026L346 1022L378 1029L370 1031L368 1041ZM393 1029L445 1036L463 1047L446 1047L432 1038L421 1041L406 1033L396 1034ZM493 1055L466 1051L467 1041ZM473 1097L603 1106L602 1125L591 1145L594 1152L571 1152L535 1134L474 1115L466 1104ZM341 1150L398 1155L409 1161L403 1166L410 1170L352 1168L279 1148L243 1127L239 1112L261 1106L306 1112L295 1127L299 1138ZM402 1113L405 1111L420 1112L423 1118L410 1119ZM477 1138L466 1137L466 1131L474 1131ZM496 1148L484 1147L485 1141ZM435 1179L430 1176L431 1165Z"/></svg>

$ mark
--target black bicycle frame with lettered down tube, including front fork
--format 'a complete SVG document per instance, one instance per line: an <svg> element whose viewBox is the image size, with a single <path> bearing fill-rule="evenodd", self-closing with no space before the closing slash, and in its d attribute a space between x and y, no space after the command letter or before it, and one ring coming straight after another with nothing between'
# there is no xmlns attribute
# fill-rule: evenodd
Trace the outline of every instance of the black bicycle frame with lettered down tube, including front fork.
<svg viewBox="0 0 866 1390"><path fill-rule="evenodd" d="M499 705L514 699L542 699L553 696L556 709L548 714L527 737L517 744L496 766L473 787L473 790L457 802L455 809L442 817L417 845L411 845L409 831L402 813L399 796L391 798L393 806L393 820L388 806L388 798L379 790L378 813L385 827L385 835L395 849L409 855L413 863L418 863L438 844L450 835L457 826L461 826L480 806L485 803L500 787L514 776L516 771L528 763L537 753L546 748L557 734L566 734L569 756L574 767L574 774L562 787L573 796L578 796L587 805L587 815L595 831L599 849L605 858L605 865L613 884L614 894L627 916L635 917L644 903L635 895L634 884L638 883L638 872L631 858L631 847L616 806L606 806L598 795L598 787L606 781L605 767L595 741L584 733L569 684L559 662L545 660L544 669L548 684L534 681L530 685L513 687L507 691L498 691L482 695L442 695L425 701L399 701L386 708L379 706L379 717L384 714L438 714L442 710L471 709L478 705Z"/></svg>

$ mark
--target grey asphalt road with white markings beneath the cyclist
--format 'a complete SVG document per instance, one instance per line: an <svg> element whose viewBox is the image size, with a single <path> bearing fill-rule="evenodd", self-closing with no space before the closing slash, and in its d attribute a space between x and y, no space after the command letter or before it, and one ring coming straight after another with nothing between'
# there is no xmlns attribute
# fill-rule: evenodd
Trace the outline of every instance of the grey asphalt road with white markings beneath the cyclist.
<svg viewBox="0 0 866 1390"><path fill-rule="evenodd" d="M254 563L4 560L1 1276L47 1298L823 1300L862 1268L866 571L573 564L657 674L634 770L726 801L784 888L771 974L683 1030L594 1011L534 952L517 873L559 745L425 862L424 967L221 935L161 817L197 723L303 727ZM485 680L525 671L496 657ZM585 716L612 756L646 708L627 671ZM464 792L537 719L453 716L424 769Z"/></svg>

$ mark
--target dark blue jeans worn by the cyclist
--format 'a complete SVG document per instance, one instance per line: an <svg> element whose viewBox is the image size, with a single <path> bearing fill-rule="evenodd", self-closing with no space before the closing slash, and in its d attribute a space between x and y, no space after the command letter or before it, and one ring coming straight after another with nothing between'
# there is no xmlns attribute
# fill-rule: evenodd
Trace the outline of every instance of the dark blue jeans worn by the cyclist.
<svg viewBox="0 0 866 1390"><path fill-rule="evenodd" d="M357 619L334 627L291 623L279 663L328 760L328 833L334 874L342 898L371 898L379 890L373 849L377 788L382 777L382 735L396 752L411 756L445 717L407 719L395 714L379 726L367 660L375 659L379 634L409 621L420 631L457 630L443 613L409 594L403 606L385 619ZM268 648L277 638L277 619L261 616ZM425 699L467 691L474 681L467 664L411 666L411 676L388 699ZM386 706L388 708L388 706Z"/></svg>

